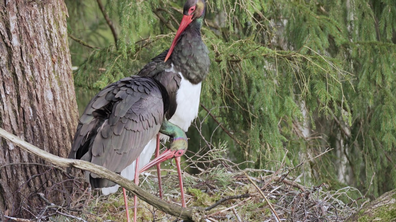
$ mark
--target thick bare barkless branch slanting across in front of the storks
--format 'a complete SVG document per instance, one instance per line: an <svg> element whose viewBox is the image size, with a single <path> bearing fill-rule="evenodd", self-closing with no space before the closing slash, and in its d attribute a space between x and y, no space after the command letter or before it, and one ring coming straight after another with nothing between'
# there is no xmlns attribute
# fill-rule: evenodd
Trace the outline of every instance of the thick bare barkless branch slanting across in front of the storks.
<svg viewBox="0 0 396 222"><path fill-rule="evenodd" d="M172 216L183 220L190 220L194 222L200 222L204 220L204 209L201 207L187 207L182 208L178 205L167 203L156 196L153 196L149 192L143 190L133 182L129 181L128 179L111 172L110 170L106 169L105 167L98 166L92 164L87 161L83 160L72 160L67 158L61 158L59 156L55 156L46 152L22 139L16 137L13 134L5 131L4 129L0 128L0 136L4 137L4 139L14 143L15 145L21 147L22 149L34 154L44 160L51 162L57 166L63 167L76 167L78 169L87 170L89 172L95 173L100 177L113 181L120 186L124 187L125 189L129 190L133 195L138 196L143 201L149 203L150 205L156 207L157 209L164 211Z"/></svg>

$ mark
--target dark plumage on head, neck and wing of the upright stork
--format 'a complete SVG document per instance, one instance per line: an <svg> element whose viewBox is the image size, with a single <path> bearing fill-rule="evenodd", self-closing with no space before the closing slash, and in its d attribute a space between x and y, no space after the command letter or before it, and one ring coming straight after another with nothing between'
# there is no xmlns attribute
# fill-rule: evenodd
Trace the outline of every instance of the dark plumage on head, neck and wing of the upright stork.
<svg viewBox="0 0 396 222"><path fill-rule="evenodd" d="M204 0L188 0L184 5L184 15L188 9L196 5L192 22L181 32L170 57L164 61L168 50L152 58L137 75L150 76L162 83L169 93L170 119L176 111L176 94L180 88L181 75L190 83L201 83L209 73L209 50L201 38L201 27L205 16L206 4Z"/></svg>

